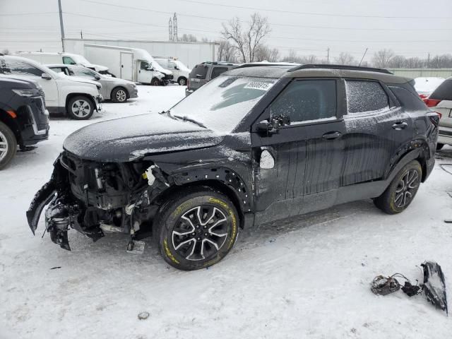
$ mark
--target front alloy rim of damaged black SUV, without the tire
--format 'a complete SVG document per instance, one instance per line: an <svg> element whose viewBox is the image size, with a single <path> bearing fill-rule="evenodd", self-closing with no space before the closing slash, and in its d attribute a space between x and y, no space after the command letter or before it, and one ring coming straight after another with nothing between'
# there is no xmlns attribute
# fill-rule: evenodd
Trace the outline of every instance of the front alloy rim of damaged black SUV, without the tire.
<svg viewBox="0 0 452 339"><path fill-rule="evenodd" d="M172 230L174 250L186 260L210 258L225 244L228 228L222 210L210 205L191 208Z"/></svg>

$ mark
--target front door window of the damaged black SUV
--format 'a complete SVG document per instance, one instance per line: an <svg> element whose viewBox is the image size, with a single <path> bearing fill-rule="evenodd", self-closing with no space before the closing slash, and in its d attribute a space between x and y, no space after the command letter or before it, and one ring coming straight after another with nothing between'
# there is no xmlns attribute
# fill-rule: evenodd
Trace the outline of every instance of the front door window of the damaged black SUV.
<svg viewBox="0 0 452 339"><path fill-rule="evenodd" d="M336 81L302 80L291 83L270 105L270 117L284 114L293 122L335 119Z"/></svg>

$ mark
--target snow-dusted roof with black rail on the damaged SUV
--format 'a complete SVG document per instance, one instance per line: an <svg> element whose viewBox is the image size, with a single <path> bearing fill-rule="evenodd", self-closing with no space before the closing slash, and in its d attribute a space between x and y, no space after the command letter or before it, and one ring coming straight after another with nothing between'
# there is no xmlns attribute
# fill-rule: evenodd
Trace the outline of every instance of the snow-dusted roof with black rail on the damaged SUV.
<svg viewBox="0 0 452 339"><path fill-rule="evenodd" d="M395 76L386 69L343 65L314 65L286 63L242 64L222 75L255 76L261 78L357 78L378 80L383 83L408 83L411 78Z"/></svg>

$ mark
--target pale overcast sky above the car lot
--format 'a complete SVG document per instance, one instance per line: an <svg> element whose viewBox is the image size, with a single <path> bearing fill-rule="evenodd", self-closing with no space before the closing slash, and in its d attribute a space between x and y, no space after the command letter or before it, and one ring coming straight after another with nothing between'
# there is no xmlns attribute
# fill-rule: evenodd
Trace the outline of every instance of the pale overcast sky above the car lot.
<svg viewBox="0 0 452 339"><path fill-rule="evenodd" d="M220 37L221 23L267 16L266 39L285 55L366 59L378 49L405 57L452 53L452 0L61 0L66 37L168 40L176 12L179 36ZM220 4L220 5L218 5ZM425 16L424 16L425 15ZM61 52L58 0L0 0L0 51Z"/></svg>

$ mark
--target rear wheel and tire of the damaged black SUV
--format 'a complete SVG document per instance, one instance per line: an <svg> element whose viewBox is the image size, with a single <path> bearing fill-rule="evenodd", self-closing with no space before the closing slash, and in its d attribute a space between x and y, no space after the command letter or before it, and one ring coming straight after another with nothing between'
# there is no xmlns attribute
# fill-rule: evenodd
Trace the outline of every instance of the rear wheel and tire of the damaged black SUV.
<svg viewBox="0 0 452 339"><path fill-rule="evenodd" d="M375 206L384 213L397 214L410 206L421 184L422 167L417 160L409 162L394 177L386 191L374 199Z"/></svg>

